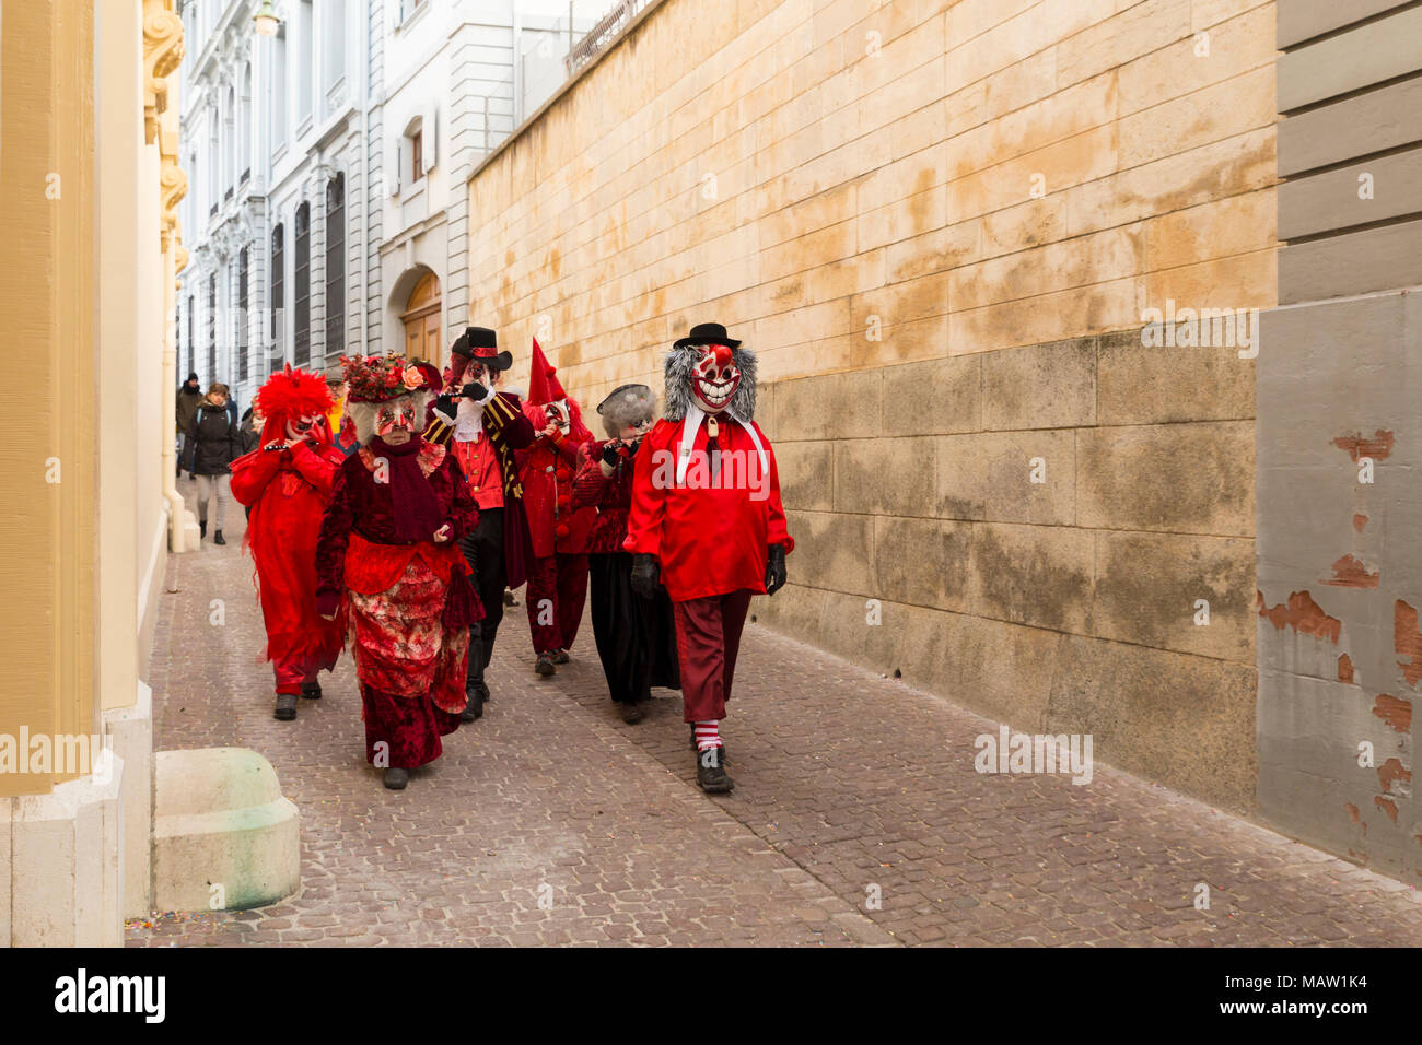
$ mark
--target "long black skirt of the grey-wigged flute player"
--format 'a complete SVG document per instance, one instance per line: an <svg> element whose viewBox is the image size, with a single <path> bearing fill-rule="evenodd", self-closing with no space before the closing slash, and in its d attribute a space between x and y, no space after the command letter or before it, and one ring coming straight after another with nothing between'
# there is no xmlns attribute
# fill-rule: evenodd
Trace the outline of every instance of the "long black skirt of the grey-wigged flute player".
<svg viewBox="0 0 1422 1045"><path fill-rule="evenodd" d="M643 599L631 587L631 553L587 556L593 587L593 640L607 677L607 692L619 704L651 697L651 687L681 688L677 626L663 587Z"/></svg>

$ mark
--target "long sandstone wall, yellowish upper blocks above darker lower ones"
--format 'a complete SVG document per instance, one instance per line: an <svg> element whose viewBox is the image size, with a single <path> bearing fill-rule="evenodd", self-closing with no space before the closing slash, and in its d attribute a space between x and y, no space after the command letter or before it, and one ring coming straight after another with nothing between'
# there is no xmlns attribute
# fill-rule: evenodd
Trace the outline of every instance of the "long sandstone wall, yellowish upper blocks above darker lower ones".
<svg viewBox="0 0 1422 1045"><path fill-rule="evenodd" d="M1274 57L1258 0L665 0L472 178L471 321L584 402L724 321L762 623L1250 809L1253 363L1139 331L1277 301Z"/></svg>

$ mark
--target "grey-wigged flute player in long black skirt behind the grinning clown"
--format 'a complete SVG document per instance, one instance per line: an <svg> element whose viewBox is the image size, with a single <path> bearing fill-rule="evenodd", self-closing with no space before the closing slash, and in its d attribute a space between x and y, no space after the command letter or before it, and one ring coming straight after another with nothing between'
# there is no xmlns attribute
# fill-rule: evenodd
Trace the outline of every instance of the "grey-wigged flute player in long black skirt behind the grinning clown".
<svg viewBox="0 0 1422 1045"><path fill-rule="evenodd" d="M660 586L651 599L633 591L631 553L623 550L633 469L641 438L657 421L657 397L647 385L623 385L602 401L597 414L607 439L587 446L573 481L573 508L597 508L587 535L593 641L607 692L631 725L646 717L651 687L681 688L671 600Z"/></svg>

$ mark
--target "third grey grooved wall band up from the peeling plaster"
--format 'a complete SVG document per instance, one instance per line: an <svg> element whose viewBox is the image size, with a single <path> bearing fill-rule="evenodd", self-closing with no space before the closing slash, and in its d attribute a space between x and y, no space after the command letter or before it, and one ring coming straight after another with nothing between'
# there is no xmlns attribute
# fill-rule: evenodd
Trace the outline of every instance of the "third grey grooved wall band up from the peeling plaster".
<svg viewBox="0 0 1422 1045"><path fill-rule="evenodd" d="M1422 78L1404 80L1283 121L1278 125L1278 173L1287 178L1413 142L1422 142Z"/></svg>

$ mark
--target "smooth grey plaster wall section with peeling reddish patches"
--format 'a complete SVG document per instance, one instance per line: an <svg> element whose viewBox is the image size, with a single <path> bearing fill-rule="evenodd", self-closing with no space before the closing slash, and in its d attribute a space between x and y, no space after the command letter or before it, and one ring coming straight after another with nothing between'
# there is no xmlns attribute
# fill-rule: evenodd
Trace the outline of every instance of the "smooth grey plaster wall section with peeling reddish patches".
<svg viewBox="0 0 1422 1045"><path fill-rule="evenodd" d="M1284 306L1261 324L1258 810L1415 880L1409 715L1422 680L1408 678L1406 611L1422 607L1422 294ZM1374 459L1371 483L1359 455Z"/></svg>

